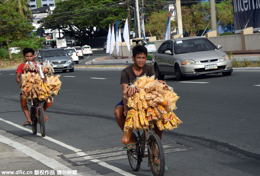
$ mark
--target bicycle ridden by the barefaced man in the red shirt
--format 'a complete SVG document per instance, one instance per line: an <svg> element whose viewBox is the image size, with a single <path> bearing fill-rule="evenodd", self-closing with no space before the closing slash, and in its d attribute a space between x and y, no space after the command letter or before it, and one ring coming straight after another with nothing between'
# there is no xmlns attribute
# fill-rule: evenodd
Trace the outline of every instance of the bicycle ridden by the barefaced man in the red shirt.
<svg viewBox="0 0 260 176"><path fill-rule="evenodd" d="M30 109L30 118L32 121L32 132L34 135L37 134L37 123L40 124L42 137L45 136L45 120L44 120L44 109L41 105L44 101L40 101L38 99L34 99L33 103L31 103L32 107Z"/></svg>

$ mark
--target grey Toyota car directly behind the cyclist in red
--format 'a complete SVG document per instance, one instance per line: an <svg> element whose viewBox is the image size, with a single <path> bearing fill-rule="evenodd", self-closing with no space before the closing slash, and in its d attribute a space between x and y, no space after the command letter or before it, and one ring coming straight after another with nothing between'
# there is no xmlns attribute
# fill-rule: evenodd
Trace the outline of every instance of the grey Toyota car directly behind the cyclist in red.
<svg viewBox="0 0 260 176"><path fill-rule="evenodd" d="M36 61L44 61L49 60L53 66L54 71L61 70L62 72L66 72L69 70L70 72L74 71L74 62L73 58L71 58L72 53L67 53L62 48L48 48L40 50Z"/></svg>

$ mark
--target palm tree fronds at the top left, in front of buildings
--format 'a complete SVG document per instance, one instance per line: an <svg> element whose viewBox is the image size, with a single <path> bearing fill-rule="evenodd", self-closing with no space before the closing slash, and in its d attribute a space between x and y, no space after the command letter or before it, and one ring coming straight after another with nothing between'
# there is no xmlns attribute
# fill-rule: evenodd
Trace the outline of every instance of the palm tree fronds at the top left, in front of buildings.
<svg viewBox="0 0 260 176"><path fill-rule="evenodd" d="M26 20L28 16L32 15L31 10L29 9L29 0L0 0L0 3L2 4L5 4L6 2L13 2L17 12L26 18Z"/></svg>

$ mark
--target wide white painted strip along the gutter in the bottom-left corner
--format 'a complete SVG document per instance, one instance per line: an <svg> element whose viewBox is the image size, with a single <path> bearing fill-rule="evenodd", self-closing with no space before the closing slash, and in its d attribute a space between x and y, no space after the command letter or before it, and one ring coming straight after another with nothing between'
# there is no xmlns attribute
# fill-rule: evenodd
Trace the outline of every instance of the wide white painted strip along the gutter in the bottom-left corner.
<svg viewBox="0 0 260 176"><path fill-rule="evenodd" d="M34 149L31 149L25 145L12 141L11 139L8 139L7 137L0 135L0 141L18 149L18 150L21 150L23 153L31 156L32 158L42 162L43 164L49 166L50 168L52 168L56 171L57 170L71 170L69 167L61 164L60 162L57 162L56 160L54 160L52 158L44 156L43 154L40 154L39 152L37 152ZM77 175L80 175L80 174L78 173Z"/></svg>

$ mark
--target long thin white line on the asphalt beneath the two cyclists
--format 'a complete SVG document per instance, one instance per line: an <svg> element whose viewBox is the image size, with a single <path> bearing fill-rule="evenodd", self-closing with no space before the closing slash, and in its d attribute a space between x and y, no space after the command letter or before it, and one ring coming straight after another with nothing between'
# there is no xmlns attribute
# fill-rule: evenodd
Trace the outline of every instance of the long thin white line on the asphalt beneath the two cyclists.
<svg viewBox="0 0 260 176"><path fill-rule="evenodd" d="M20 125L18 125L18 124L15 124L15 123L13 123L13 122L10 122L10 121L8 121L8 120L4 120L4 119L2 119L2 118L0 118L0 120L1 121L3 121L3 122L6 122L6 123L8 123L8 124L10 124L10 125L13 125L13 126L15 126L15 127L17 127L17 128L20 128L20 129L22 129L22 130L25 130L25 131L28 131L28 132L30 132L31 133L31 130L29 130L28 128L25 128L25 127L22 127L22 126L20 126ZM41 134L37 134L38 136L41 136ZM72 151L74 151L74 152L77 152L76 154L77 155L79 155L79 156L85 156L85 157L87 157L88 159L90 159L90 158L92 158L92 157L90 157L90 156L86 156L86 154L84 153L84 152L81 152L81 149L77 149L77 148L75 148L75 147L72 147L72 146L70 146L70 145L67 145L67 144L65 144L65 143L63 143L63 142L61 142L61 141L58 141L58 140L56 140L56 139L53 139L53 138L51 138L51 137L48 137L48 136L45 136L45 137L43 137L44 139L47 139L47 140L49 140L49 141L52 141L52 142L54 142L54 143L57 143L57 144L59 144L59 145L61 145L61 146L63 146L63 147L66 147L67 149L70 149L70 150L72 150ZM108 168L108 169L111 169L111 170L113 170L113 171L115 171L115 172L118 172L118 173L120 173L120 174L122 174L122 175L125 175L125 176L134 176L133 174L131 174L131 173L128 173L128 172L125 172L125 171L123 171L123 170L121 170L121 169L119 169L119 168L117 168L117 167L114 167L114 166L111 166L111 165L109 165L109 164L107 164L107 163L105 163L105 162L101 162L101 161L99 161L99 160L93 160L92 162L96 162L96 163L98 163L98 164L100 164L101 166L104 166L104 167L106 167L106 168ZM44 163L45 164L45 163ZM47 165L47 164L46 164ZM49 166L49 165L47 165L47 166Z"/></svg>

